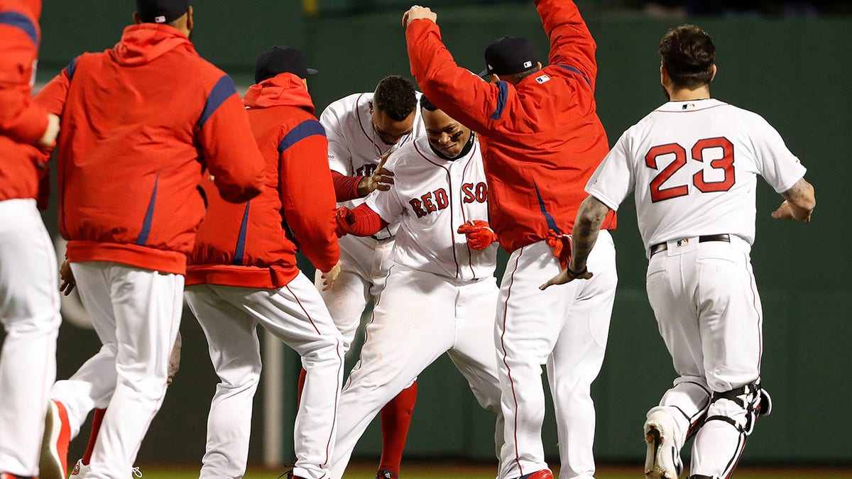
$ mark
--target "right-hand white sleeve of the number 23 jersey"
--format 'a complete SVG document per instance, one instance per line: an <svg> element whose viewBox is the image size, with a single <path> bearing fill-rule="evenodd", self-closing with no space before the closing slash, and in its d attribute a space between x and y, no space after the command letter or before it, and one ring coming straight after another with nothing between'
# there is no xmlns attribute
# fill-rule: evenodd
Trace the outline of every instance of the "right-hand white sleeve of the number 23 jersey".
<svg viewBox="0 0 852 479"><path fill-rule="evenodd" d="M775 193L784 193L792 188L807 170L787 148L778 131L765 119L756 116L759 118L754 124L757 134L751 136L751 140L758 173L775 188Z"/></svg>

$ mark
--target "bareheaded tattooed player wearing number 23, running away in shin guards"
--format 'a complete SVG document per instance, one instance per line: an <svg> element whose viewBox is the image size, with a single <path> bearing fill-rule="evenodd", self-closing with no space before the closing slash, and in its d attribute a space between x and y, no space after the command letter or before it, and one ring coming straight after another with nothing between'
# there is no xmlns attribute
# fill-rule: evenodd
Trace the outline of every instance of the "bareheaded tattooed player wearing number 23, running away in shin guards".
<svg viewBox="0 0 852 479"><path fill-rule="evenodd" d="M711 98L709 35L678 26L659 53L669 101L625 131L596 170L574 224L571 262L543 287L594 278L587 258L597 228L635 191L648 300L678 375L648 412L645 476L680 477L680 449L695 436L689 477L721 479L771 407L760 384L763 314L749 257L757 175L785 199L775 218L809 222L814 188L766 120Z"/></svg>

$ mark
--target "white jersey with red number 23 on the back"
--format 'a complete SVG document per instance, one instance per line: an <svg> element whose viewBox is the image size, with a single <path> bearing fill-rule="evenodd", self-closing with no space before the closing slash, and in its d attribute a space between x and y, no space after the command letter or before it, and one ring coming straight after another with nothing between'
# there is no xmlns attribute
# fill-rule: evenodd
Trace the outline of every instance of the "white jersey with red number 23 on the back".
<svg viewBox="0 0 852 479"><path fill-rule="evenodd" d="M753 243L757 175L783 193L804 173L757 113L712 99L669 101L625 131L585 189L613 210L636 190L647 254L702 234Z"/></svg>

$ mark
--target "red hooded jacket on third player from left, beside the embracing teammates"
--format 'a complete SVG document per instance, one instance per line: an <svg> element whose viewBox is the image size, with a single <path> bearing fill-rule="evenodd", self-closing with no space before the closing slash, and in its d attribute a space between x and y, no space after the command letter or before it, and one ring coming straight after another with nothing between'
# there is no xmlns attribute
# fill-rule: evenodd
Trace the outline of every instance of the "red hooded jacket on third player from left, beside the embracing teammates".
<svg viewBox="0 0 852 479"><path fill-rule="evenodd" d="M283 287L299 273L296 243L321 271L340 258L328 141L302 79L281 73L252 85L245 106L266 159L267 188L245 205L229 205L205 182L210 206L187 285Z"/></svg>

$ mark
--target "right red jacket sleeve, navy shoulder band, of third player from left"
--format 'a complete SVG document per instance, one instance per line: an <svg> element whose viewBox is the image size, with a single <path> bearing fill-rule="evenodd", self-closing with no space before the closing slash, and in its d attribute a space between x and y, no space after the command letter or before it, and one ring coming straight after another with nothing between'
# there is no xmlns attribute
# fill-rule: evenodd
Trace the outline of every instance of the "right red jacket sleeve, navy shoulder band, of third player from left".
<svg viewBox="0 0 852 479"><path fill-rule="evenodd" d="M340 259L328 141L317 120L306 120L279 142L279 194L287 225L314 267L328 273Z"/></svg>

